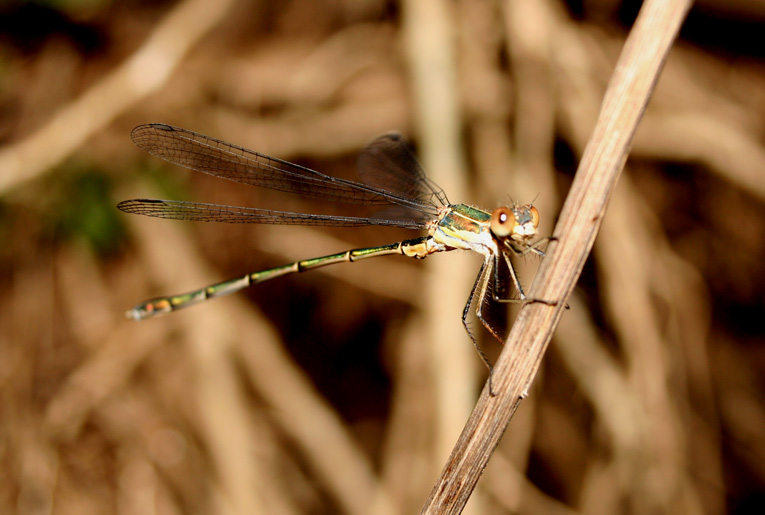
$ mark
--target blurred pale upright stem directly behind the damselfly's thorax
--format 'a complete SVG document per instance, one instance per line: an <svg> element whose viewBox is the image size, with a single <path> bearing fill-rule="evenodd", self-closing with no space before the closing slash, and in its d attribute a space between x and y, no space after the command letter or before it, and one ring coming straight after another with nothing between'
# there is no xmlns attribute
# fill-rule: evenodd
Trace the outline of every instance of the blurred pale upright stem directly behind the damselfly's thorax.
<svg viewBox="0 0 765 515"><path fill-rule="evenodd" d="M444 191L464 192L466 167L451 5L445 0L409 0L402 5L422 164ZM462 333L456 318L445 322L442 316L462 305L463 292L469 291L475 272L467 267L455 269L452 264L445 259L429 263L422 287L427 292L423 312L435 393L434 472L451 449L454 435L460 431L475 398L475 392L467 388L475 384L473 349L452 337L455 332ZM444 277L449 277L449 281L444 281Z"/></svg>

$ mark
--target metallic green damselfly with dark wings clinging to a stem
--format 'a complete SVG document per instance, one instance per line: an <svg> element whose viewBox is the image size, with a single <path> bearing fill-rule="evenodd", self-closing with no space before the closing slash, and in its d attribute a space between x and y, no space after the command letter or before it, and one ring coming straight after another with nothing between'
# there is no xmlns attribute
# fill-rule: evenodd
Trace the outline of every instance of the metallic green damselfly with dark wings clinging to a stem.
<svg viewBox="0 0 765 515"><path fill-rule="evenodd" d="M533 252L544 256L537 246L545 240L532 242L539 225L539 213L534 206L513 203L489 213L466 204L450 204L444 192L425 176L409 144L399 134L381 136L361 152L358 173L363 182L325 175L170 125L140 125L133 129L131 137L147 152L191 170L323 202L364 204L377 206L379 210L369 217L354 217L136 199L118 204L117 207L126 213L202 222L342 227L379 225L420 229L428 233L427 236L388 245L296 261L189 293L151 299L127 312L127 316L135 320L192 306L282 275L335 263L392 254L421 259L436 252L472 250L482 254L484 260L462 313L462 323L491 369L468 325L470 308L476 306L478 319L502 341L501 317L492 314L491 306L528 300L510 262L510 254ZM518 298L511 297L513 291L518 293Z"/></svg>

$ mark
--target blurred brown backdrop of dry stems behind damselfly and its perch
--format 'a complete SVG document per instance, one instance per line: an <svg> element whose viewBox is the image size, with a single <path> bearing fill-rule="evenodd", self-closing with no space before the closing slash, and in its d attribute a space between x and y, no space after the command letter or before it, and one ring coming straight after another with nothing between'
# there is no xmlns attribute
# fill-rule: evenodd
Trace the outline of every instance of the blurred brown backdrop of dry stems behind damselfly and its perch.
<svg viewBox="0 0 765 515"><path fill-rule="evenodd" d="M0 6L0 512L414 513L486 369L480 257L389 257L166 317L149 297L417 236L128 216L310 211L130 141L164 122L355 177L399 130L543 235L639 2ZM761 513L765 4L697 2L529 397L466 513ZM351 213L352 214L352 213ZM529 285L538 259L519 260ZM471 318L492 359L499 344Z"/></svg>

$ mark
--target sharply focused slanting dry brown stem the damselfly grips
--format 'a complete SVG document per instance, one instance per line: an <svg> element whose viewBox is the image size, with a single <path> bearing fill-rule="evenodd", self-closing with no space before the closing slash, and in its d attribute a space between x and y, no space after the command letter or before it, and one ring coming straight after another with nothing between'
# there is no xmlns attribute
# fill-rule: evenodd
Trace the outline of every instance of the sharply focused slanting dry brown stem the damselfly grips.
<svg viewBox="0 0 765 515"><path fill-rule="evenodd" d="M651 0L643 7L616 65L593 136L555 230L558 240L529 290L557 305L526 305L513 326L487 387L421 513L460 513L520 401L592 248L632 137L691 2Z"/></svg>

